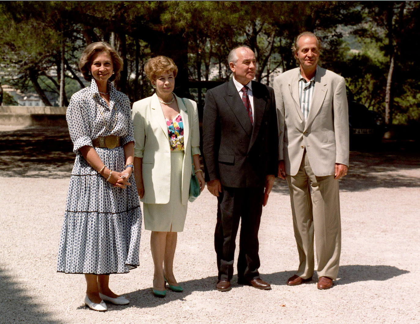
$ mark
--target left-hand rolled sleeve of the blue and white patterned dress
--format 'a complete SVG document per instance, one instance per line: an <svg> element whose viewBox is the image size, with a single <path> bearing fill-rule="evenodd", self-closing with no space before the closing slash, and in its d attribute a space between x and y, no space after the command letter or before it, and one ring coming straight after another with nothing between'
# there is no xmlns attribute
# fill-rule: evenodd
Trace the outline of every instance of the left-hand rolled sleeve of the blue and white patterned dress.
<svg viewBox="0 0 420 324"><path fill-rule="evenodd" d="M66 111L68 132L73 142L73 152L83 146L93 146L90 137L89 107L80 96L72 96Z"/></svg>

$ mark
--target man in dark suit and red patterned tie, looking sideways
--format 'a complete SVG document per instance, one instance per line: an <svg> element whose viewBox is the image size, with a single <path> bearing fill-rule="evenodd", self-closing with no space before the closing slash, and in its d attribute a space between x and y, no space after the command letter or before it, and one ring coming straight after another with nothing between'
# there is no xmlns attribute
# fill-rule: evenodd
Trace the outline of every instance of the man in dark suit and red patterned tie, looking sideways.
<svg viewBox="0 0 420 324"><path fill-rule="evenodd" d="M277 174L276 104L272 88L252 81L255 54L249 47L233 49L228 62L233 78L207 91L203 116L207 189L218 197L216 289L231 289L239 219L238 283L271 289L258 272L258 229Z"/></svg>

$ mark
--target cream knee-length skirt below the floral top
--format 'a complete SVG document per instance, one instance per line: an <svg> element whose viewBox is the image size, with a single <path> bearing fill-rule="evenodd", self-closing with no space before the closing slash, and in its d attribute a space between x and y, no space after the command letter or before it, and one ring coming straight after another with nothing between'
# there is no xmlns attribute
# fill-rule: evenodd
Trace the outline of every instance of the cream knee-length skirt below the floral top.
<svg viewBox="0 0 420 324"><path fill-rule="evenodd" d="M182 232L187 205L181 204L184 151L171 151L171 188L167 204L143 204L144 228L156 232Z"/></svg>

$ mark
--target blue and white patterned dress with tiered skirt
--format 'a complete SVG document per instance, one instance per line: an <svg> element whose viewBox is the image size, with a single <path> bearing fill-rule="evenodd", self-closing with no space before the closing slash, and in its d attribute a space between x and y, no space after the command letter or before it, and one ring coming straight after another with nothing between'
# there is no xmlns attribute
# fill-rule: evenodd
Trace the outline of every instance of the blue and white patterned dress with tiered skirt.
<svg viewBox="0 0 420 324"><path fill-rule="evenodd" d="M134 141L130 102L110 82L108 91L110 107L92 80L89 87L74 93L67 108L76 160L61 230L58 272L125 273L139 265L142 213L134 174L128 180L131 186L113 187L79 152L84 145L93 146L92 140L98 136L121 136L121 146L95 150L111 170L124 169L122 145Z"/></svg>

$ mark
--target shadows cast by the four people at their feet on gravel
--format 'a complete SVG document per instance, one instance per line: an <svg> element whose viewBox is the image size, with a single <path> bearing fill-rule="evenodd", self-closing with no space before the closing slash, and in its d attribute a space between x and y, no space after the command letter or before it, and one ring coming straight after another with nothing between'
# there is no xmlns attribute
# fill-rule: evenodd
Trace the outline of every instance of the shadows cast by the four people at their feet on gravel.
<svg viewBox="0 0 420 324"><path fill-rule="evenodd" d="M350 283L357 283L360 281L384 281L393 277L404 275L409 273L407 270L401 270L394 266L389 265L343 265L340 267L339 280L335 282L335 285L347 285ZM261 278L271 285L286 285L286 280L295 274L295 271L281 271L270 274L261 274ZM231 280L232 289L243 287L237 283L236 275ZM307 284L315 285L318 278L314 276L314 280ZM175 293L171 290L167 290L165 298L157 298L152 293L152 288L146 288L141 290L132 291L127 293L127 297L130 299L131 306L144 308L144 307L157 307L171 301L184 299L193 291L210 291L215 290L217 276L206 277L202 279L189 280L180 283L184 288L182 293ZM250 288L251 289L251 288ZM273 289L281 289L273 287ZM129 306L127 305L127 306ZM117 308L115 308L117 309ZM108 308L109 310L109 308Z"/></svg>

